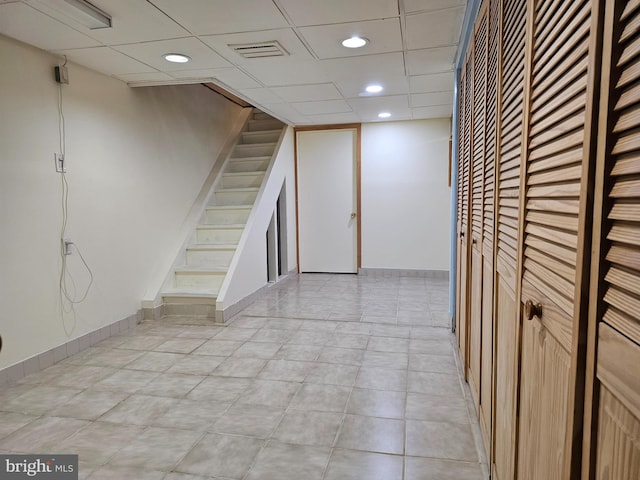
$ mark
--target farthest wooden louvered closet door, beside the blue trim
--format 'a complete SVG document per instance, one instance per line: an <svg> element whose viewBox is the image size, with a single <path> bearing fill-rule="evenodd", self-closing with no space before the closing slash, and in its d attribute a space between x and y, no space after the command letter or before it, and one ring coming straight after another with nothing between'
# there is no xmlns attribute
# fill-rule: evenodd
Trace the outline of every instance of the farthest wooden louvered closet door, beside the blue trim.
<svg viewBox="0 0 640 480"><path fill-rule="evenodd" d="M468 317L468 268L469 268L469 209L471 196L471 126L473 118L473 51L470 52L460 77L460 132L458 148L458 258L457 258L457 302L456 331L463 370L467 372L469 355L469 317Z"/></svg>

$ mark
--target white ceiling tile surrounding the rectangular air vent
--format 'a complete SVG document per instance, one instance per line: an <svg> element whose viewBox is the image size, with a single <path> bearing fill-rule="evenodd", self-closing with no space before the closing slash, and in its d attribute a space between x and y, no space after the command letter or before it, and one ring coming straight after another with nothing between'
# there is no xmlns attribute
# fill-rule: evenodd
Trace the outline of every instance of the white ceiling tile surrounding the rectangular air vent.
<svg viewBox="0 0 640 480"><path fill-rule="evenodd" d="M229 45L243 45L248 43L261 43L276 40L289 54L287 58L299 60L312 59L307 47L300 41L291 28L277 30L261 30L259 32L230 33L225 35L205 35L200 39L213 48L220 55L237 65L253 64L256 62L268 62L268 58L246 59L237 54Z"/></svg>

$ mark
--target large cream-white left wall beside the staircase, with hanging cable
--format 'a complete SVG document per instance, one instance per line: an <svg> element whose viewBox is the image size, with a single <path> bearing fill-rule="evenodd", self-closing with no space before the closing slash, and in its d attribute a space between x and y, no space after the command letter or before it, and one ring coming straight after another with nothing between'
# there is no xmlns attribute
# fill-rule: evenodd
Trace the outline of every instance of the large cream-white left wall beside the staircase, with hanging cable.
<svg viewBox="0 0 640 480"><path fill-rule="evenodd" d="M59 58L0 36L0 368L134 314L240 107L201 85L132 89L69 65L67 236L94 285L61 314ZM69 270L87 280L77 253ZM66 330L69 334L65 333Z"/></svg>

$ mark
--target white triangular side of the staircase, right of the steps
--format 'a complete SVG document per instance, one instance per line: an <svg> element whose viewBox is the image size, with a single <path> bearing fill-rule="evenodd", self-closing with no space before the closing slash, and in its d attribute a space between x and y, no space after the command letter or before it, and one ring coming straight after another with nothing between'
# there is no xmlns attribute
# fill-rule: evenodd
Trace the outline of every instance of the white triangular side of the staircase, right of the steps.
<svg viewBox="0 0 640 480"><path fill-rule="evenodd" d="M256 197L247 224L216 300L216 322L224 323L237 313L248 299L268 285L266 231L276 208L283 183L287 182L287 210L295 209L295 159L293 128L283 128L280 139ZM295 211L290 211L295 218ZM288 214L289 216L289 214ZM289 229L295 231L295 225ZM295 248L295 242L289 242ZM287 255L289 252L285 252ZM292 263L292 262L290 262Z"/></svg>

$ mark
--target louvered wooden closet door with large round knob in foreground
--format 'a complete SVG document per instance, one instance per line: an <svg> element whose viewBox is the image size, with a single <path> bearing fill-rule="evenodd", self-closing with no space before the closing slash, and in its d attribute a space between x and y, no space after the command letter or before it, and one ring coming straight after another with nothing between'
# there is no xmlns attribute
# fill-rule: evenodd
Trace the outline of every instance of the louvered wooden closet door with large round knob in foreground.
<svg viewBox="0 0 640 480"><path fill-rule="evenodd" d="M592 212L585 191L594 157L597 2L529 5L517 476L564 480L573 478L581 446L582 397L576 394L584 378L578 342L585 317L582 279L589 271L584 250L590 248L586 222Z"/></svg>

